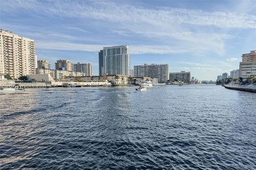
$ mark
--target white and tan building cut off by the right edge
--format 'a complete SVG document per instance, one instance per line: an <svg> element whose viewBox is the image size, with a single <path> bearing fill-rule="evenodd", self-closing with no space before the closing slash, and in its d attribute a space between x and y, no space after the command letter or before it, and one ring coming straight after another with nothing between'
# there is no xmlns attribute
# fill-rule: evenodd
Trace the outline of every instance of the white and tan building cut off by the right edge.
<svg viewBox="0 0 256 170"><path fill-rule="evenodd" d="M245 79L250 75L256 76L256 50L243 54L242 62L239 64L239 77Z"/></svg>

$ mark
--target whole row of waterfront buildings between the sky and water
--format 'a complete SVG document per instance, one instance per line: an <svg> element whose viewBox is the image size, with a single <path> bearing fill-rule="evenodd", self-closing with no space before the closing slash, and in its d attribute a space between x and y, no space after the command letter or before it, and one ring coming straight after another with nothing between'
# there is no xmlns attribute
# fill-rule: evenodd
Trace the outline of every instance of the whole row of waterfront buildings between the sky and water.
<svg viewBox="0 0 256 170"><path fill-rule="evenodd" d="M214 81L199 81L190 72L169 72L168 64L143 64L131 68L129 46L103 47L99 53L99 75L93 76L91 63L76 63L69 60L57 60L54 69L49 61L38 60L35 54L33 39L20 37L11 31L0 29L0 73L7 79L39 82L105 82L113 86L137 84L149 80L158 83L214 83ZM231 78L246 78L256 74L256 52L242 55L239 70L233 70L219 75L217 80Z"/></svg>

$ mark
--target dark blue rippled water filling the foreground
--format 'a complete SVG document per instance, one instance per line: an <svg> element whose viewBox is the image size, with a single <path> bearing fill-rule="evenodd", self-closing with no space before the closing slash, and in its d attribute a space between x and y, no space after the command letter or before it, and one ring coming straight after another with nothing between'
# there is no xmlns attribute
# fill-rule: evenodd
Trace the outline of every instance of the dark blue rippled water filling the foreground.
<svg viewBox="0 0 256 170"><path fill-rule="evenodd" d="M134 90L0 95L0 169L256 169L256 94Z"/></svg>

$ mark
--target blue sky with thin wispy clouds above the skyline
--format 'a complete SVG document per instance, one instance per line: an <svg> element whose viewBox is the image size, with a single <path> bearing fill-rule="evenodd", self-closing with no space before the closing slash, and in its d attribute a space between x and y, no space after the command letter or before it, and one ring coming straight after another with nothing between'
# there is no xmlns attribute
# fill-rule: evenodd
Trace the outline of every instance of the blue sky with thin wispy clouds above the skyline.
<svg viewBox="0 0 256 170"><path fill-rule="evenodd" d="M92 63L129 45L131 67L169 64L215 80L256 50L255 1L2 1L0 28L35 40L38 60Z"/></svg>

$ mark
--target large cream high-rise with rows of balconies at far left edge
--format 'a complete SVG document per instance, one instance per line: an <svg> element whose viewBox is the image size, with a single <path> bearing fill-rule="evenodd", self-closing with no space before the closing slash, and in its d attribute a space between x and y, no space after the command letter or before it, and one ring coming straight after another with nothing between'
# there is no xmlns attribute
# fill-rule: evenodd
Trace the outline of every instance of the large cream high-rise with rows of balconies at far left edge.
<svg viewBox="0 0 256 170"><path fill-rule="evenodd" d="M0 73L9 74L14 79L35 74L34 40L0 29Z"/></svg>

